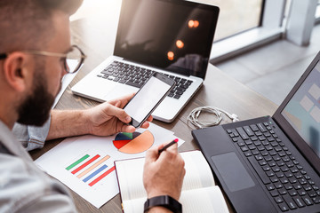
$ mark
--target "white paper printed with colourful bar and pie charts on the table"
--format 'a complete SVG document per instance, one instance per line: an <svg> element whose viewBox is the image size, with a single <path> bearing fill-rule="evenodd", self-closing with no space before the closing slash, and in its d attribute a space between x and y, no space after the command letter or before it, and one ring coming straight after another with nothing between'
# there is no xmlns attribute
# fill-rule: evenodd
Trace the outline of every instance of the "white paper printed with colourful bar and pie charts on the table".
<svg viewBox="0 0 320 213"><path fill-rule="evenodd" d="M144 157L150 147L175 138L172 131L152 122L148 130L140 128L133 133L72 137L36 159L36 165L100 208L119 193L115 161ZM178 145L183 142L179 138Z"/></svg>

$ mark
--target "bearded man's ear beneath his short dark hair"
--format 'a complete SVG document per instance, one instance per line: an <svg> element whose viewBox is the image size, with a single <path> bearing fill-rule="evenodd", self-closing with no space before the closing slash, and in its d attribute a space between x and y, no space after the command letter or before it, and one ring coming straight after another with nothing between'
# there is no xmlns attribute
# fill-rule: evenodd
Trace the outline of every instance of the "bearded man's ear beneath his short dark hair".
<svg viewBox="0 0 320 213"><path fill-rule="evenodd" d="M15 51L4 60L4 78L15 91L25 91L28 87L30 57L23 52Z"/></svg>

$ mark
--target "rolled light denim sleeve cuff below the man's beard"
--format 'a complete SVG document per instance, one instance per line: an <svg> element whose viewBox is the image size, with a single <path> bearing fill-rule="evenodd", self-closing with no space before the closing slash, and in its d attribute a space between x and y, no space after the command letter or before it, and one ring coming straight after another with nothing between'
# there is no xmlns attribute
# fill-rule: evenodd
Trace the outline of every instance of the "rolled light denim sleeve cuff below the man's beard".
<svg viewBox="0 0 320 213"><path fill-rule="evenodd" d="M16 122L12 132L27 151L44 147L44 141L48 136L51 116L42 127L22 125Z"/></svg>

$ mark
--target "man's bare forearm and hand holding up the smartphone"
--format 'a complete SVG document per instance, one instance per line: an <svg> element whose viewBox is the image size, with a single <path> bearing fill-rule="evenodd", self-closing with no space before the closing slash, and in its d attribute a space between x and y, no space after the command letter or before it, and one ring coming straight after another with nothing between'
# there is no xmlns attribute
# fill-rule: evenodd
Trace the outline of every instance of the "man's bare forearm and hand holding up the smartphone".
<svg viewBox="0 0 320 213"><path fill-rule="evenodd" d="M84 110L52 110L50 130L47 140L78 135L92 134L109 136L120 131L133 132L135 128L127 125L131 117L122 109L134 96L125 96ZM141 128L148 128L152 116Z"/></svg>

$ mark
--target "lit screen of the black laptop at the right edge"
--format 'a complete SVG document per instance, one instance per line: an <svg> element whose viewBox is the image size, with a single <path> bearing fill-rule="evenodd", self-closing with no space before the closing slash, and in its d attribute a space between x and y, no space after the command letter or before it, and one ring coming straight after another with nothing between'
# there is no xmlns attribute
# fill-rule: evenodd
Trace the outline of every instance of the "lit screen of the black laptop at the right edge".
<svg viewBox="0 0 320 213"><path fill-rule="evenodd" d="M320 62L281 112L320 157Z"/></svg>

